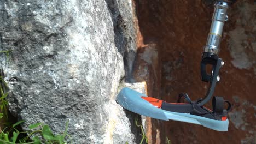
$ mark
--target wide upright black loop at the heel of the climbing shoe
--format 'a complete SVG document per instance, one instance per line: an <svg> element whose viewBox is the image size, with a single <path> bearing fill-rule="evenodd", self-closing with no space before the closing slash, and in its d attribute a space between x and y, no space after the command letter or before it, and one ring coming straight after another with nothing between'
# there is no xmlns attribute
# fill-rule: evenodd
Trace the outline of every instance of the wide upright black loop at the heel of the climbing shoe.
<svg viewBox="0 0 256 144"><path fill-rule="evenodd" d="M216 97L212 98L212 110L215 113L222 114L224 110L224 99L223 97Z"/></svg>

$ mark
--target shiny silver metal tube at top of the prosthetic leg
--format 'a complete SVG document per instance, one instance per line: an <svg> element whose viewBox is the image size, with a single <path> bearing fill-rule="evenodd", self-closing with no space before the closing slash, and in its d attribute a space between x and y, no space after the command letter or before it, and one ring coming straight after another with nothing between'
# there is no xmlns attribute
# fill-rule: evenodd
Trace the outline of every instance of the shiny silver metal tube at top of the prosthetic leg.
<svg viewBox="0 0 256 144"><path fill-rule="evenodd" d="M214 4L214 7L211 29L203 49L205 52L210 52L211 55L218 55L224 22L228 20L228 15L226 15L226 13L229 5L227 2L217 1Z"/></svg>

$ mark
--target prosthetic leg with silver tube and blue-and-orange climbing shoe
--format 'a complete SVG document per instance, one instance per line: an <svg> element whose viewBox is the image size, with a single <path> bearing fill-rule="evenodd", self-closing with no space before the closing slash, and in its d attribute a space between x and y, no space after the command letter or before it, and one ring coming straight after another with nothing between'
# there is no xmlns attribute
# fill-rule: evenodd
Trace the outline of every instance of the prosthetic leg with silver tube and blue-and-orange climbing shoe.
<svg viewBox="0 0 256 144"><path fill-rule="evenodd" d="M224 22L228 20L226 13L229 8L229 1L216 1L214 7L211 29L207 43L203 48L201 61L201 80L210 83L203 99L199 98L192 101L187 94L180 94L178 103L167 103L125 87L119 92L116 98L117 103L124 109L140 115L165 121L172 119L200 124L213 130L227 131L229 125L227 113L231 109L231 104L223 97L213 97L213 92L216 83L220 80L219 70L224 65L222 59L218 57L218 53ZM207 74L206 65L211 65L211 74ZM181 98L187 100L187 103L180 103ZM212 110L203 106L211 98ZM227 109L224 109L225 103L228 105Z"/></svg>

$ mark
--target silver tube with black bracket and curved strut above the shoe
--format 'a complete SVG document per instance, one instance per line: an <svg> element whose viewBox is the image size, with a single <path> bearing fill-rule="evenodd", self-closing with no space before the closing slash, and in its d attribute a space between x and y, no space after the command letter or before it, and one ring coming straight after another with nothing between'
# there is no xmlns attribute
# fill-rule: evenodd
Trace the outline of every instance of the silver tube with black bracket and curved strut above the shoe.
<svg viewBox="0 0 256 144"><path fill-rule="evenodd" d="M217 1L214 4L214 13L212 16L212 25L208 34L207 42L203 47L201 61L201 79L204 82L210 82L210 87L205 98L199 103L200 106L211 100L216 83L219 82L219 69L223 67L224 62L218 57L220 39L222 38L224 22L228 20L226 15L229 3L226 1ZM206 65L212 66L211 74L207 74Z"/></svg>

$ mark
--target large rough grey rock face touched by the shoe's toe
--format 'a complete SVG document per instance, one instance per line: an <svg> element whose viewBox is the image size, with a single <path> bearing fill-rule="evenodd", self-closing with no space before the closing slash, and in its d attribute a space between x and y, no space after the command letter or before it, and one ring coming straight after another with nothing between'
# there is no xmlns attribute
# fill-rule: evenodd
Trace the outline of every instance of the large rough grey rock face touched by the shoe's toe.
<svg viewBox="0 0 256 144"><path fill-rule="evenodd" d="M75 143L136 142L130 113L114 100L132 72L134 19L131 0L1 0L0 49L11 50L1 67L22 127L60 132L69 120Z"/></svg>

